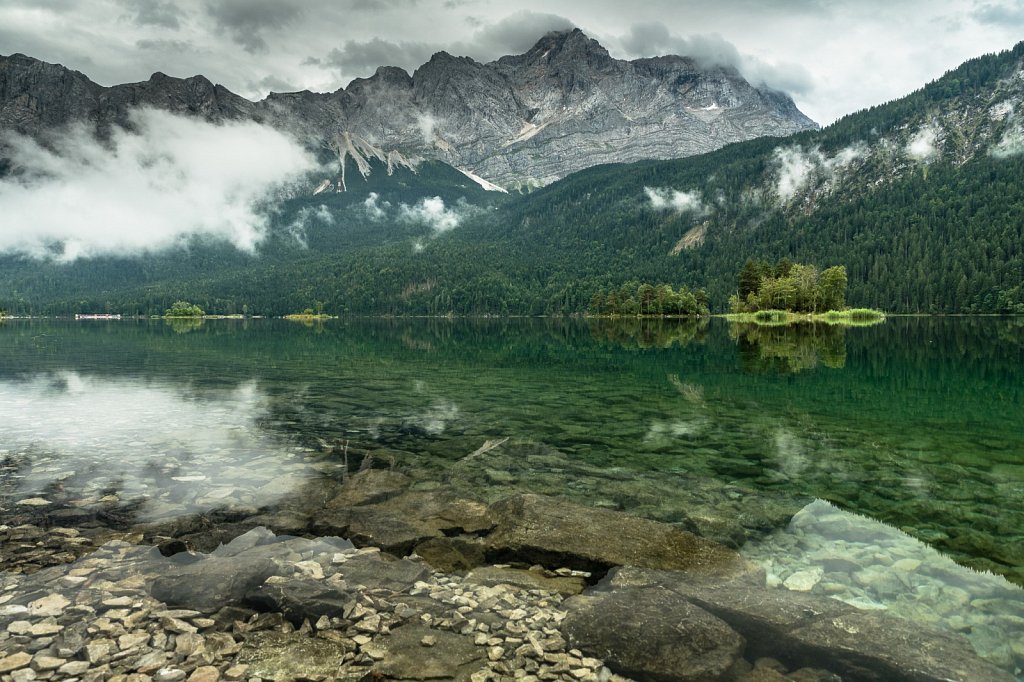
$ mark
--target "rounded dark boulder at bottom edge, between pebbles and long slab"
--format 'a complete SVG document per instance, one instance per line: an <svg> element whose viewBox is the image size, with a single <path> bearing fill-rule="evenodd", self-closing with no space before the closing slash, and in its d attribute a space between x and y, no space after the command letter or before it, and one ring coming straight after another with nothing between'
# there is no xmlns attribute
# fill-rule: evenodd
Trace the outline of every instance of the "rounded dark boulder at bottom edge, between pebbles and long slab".
<svg viewBox="0 0 1024 682"><path fill-rule="evenodd" d="M569 644L636 680L724 679L742 656L742 637L665 588L581 595L562 606Z"/></svg>

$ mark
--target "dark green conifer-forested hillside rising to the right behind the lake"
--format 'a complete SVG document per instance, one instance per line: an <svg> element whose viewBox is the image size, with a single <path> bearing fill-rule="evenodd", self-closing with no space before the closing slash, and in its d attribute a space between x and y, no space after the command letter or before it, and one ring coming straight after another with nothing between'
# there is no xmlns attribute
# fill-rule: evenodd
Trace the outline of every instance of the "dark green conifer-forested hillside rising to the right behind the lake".
<svg viewBox="0 0 1024 682"><path fill-rule="evenodd" d="M724 310L748 258L786 257L845 266L852 306L1024 312L1022 57L1024 43L973 59L818 132L596 167L521 197L450 188L443 229L397 208L425 208L439 185L400 198L381 185L294 200L283 215L333 217L298 244L279 216L258 256L195 245L130 262L8 261L0 307L568 313L639 281L707 289Z"/></svg>

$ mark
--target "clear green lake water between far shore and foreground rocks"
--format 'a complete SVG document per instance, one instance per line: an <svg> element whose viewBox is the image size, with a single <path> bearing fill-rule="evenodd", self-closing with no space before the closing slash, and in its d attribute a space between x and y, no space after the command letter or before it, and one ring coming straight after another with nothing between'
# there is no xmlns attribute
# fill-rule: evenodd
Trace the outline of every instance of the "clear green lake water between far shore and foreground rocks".
<svg viewBox="0 0 1024 682"><path fill-rule="evenodd" d="M1020 318L7 321L0 523L30 496L215 506L262 472L259 503L347 442L350 467L422 488L561 495L733 546L824 499L1024 584L1022 408Z"/></svg>

